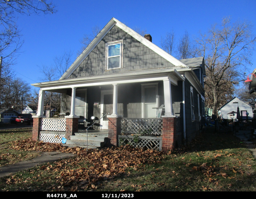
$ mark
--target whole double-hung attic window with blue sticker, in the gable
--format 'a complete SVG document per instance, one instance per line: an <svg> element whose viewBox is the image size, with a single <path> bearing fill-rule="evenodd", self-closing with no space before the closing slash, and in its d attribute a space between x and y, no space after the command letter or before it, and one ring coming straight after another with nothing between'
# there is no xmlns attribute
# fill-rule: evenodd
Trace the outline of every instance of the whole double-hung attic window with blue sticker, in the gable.
<svg viewBox="0 0 256 199"><path fill-rule="evenodd" d="M123 68L123 40L106 43L106 70Z"/></svg>

